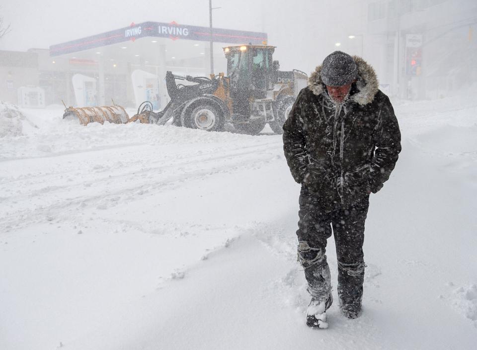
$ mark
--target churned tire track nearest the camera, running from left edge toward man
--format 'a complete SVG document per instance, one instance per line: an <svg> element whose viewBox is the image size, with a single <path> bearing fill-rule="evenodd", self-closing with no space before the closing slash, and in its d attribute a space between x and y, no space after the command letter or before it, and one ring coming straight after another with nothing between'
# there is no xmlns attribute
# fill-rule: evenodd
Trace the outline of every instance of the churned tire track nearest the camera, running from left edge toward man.
<svg viewBox="0 0 477 350"><path fill-rule="evenodd" d="M71 217L72 212L77 211L80 205L98 205L101 200L107 200L108 198L120 196L124 193L135 193L135 195L129 198L130 200L138 199L139 196L137 192L144 190L151 192L151 195L157 195L163 190L170 190L172 188L179 187L181 182L186 181L190 178L199 179L217 174L232 174L233 172L241 169L260 169L264 164L269 163L273 160L273 153L277 152L278 150L276 150L275 147L271 146L275 146L276 144L278 143L272 145L264 144L258 147L249 146L246 148L250 150L246 152L240 152L243 149L242 147L236 148L232 150L232 152L228 150L227 154L213 157L210 157L209 155L200 154L194 157L193 161L179 162L165 166L163 165L164 160L158 160L155 163L160 163L160 165L149 167L140 171L134 171L134 173L131 173L131 171L128 171L128 169L126 169L122 173L113 176L107 175L102 176L100 178L90 178L88 180L94 183L94 187L91 187L91 190L95 193L99 191L99 194L94 195L81 195L72 198L70 195L71 192L74 192L75 190L84 190L84 183L81 182L68 183L61 186L46 186L37 189L33 193L29 192L23 193L19 196L11 196L7 199L3 198L3 202L5 202L3 203L3 205L5 205L5 207L8 204L7 201L10 201L12 203L18 203L20 201L23 202L25 200L32 201L32 199L37 198L37 200L41 200L44 202L46 200L40 197L44 197L45 193L48 193L50 197L54 197L55 201L49 205L33 205L33 209L25 208L22 210L14 210L13 212L8 211L8 214L4 216L0 221L0 228L10 230L12 228L22 228L34 222L44 222L45 217L50 215L50 213L57 213L58 215L56 216ZM266 151L272 152L267 153ZM250 158L250 155L255 155L255 157ZM224 160L227 164L224 164L224 162L217 164L217 161ZM204 166L205 168L197 170L198 164ZM136 163L134 163L133 165L137 167ZM210 165L213 166L210 167ZM180 169L181 167L185 168ZM180 169L183 174L176 175L178 169ZM164 174L163 170L166 170L167 172ZM148 174L152 175L147 176ZM165 179L162 178L159 181L154 181L155 174L156 176L166 175L167 177ZM81 178L81 175L82 174L79 174L78 177ZM129 175L130 177L134 175L133 180L135 181L135 184L133 186L126 185L117 187L112 191L108 191L108 186L110 184L118 183L116 180L126 178L127 175ZM42 181L38 183L42 184L45 182L48 183L48 179L43 178ZM17 186L22 187L22 184L17 184ZM82 187L79 188L80 186ZM25 187L31 188L32 184L30 183ZM103 188L100 189L98 187ZM68 196L66 196L65 194L67 194ZM18 203L18 206L23 207L21 203Z"/></svg>

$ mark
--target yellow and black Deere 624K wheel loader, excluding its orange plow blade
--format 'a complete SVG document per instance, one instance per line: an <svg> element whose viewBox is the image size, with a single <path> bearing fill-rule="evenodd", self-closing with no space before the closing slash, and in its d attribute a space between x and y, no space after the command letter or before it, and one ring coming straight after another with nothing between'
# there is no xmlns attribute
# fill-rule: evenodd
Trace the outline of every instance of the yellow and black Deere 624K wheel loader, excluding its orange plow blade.
<svg viewBox="0 0 477 350"><path fill-rule="evenodd" d="M225 47L227 76L183 77L167 72L169 103L156 113L152 103L145 101L128 122L163 125L172 118L174 125L207 131L221 131L225 123L232 123L235 129L250 135L258 134L268 123L281 134L308 76L299 70L280 71L278 61L272 59L274 50L275 46L266 45Z"/></svg>

